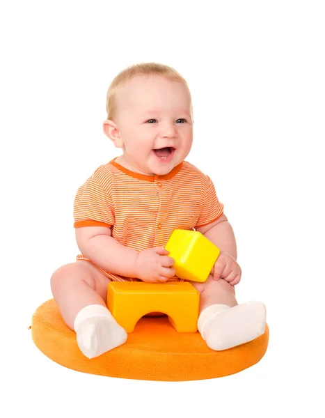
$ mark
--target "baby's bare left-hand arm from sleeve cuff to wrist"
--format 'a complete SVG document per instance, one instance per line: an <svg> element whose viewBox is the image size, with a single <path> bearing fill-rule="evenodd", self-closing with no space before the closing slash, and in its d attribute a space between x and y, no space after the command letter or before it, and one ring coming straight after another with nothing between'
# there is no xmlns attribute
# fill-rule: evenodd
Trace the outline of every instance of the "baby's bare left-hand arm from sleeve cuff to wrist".
<svg viewBox="0 0 325 418"><path fill-rule="evenodd" d="M120 244L104 226L76 228L81 253L98 267L124 277L136 277L138 251Z"/></svg>

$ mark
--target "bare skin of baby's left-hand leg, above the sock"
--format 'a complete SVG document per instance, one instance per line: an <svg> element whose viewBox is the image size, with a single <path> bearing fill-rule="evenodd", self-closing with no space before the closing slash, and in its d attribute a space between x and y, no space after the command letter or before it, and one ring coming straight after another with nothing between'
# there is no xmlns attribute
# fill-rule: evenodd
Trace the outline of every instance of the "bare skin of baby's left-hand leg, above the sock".
<svg viewBox="0 0 325 418"><path fill-rule="evenodd" d="M92 304L106 307L110 281L89 261L63 265L52 274L51 291L68 327L73 330L74 319L84 307Z"/></svg>

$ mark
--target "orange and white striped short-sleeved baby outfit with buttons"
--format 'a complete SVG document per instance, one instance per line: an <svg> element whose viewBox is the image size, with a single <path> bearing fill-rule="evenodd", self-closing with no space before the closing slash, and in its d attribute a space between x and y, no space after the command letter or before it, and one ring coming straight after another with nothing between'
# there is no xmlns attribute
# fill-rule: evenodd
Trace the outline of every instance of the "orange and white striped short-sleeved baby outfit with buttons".
<svg viewBox="0 0 325 418"><path fill-rule="evenodd" d="M106 226L122 245L143 251L164 247L174 229L196 229L223 214L212 180L189 162L181 162L164 176L148 176L115 160L100 166L79 187L74 228ZM90 261L81 254L77 260ZM113 281L138 280L99 269ZM182 279L175 276L168 281Z"/></svg>

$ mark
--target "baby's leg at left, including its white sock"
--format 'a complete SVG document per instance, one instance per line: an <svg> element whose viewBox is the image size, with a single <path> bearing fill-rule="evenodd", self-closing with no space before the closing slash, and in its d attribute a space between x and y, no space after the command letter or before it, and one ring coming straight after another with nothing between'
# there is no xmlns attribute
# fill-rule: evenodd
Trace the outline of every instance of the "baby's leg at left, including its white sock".
<svg viewBox="0 0 325 418"><path fill-rule="evenodd" d="M63 265L51 277L51 291L63 320L77 333L78 346L88 358L127 341L127 332L106 307L110 281L88 261Z"/></svg>

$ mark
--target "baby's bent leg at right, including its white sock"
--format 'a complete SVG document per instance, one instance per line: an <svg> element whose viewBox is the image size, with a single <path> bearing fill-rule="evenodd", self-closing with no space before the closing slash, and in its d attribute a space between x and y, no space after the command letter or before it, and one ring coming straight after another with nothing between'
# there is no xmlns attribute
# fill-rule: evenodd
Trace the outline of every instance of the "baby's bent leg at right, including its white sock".
<svg viewBox="0 0 325 418"><path fill-rule="evenodd" d="M235 288L223 279L191 284L200 292L198 330L212 350L226 350L264 334L266 309L261 302L237 304Z"/></svg>

